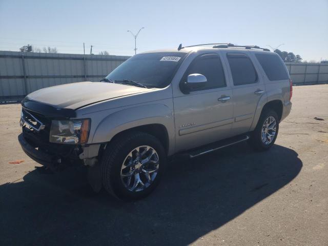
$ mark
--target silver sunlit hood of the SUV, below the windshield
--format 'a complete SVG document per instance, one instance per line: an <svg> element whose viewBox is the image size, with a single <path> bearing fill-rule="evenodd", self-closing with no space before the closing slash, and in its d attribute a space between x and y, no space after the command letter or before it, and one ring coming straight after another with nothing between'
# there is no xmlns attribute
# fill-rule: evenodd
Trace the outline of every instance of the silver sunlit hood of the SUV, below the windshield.
<svg viewBox="0 0 328 246"><path fill-rule="evenodd" d="M112 98L150 91L130 85L79 82L53 86L30 93L27 98L32 101L51 105L55 108L77 109Z"/></svg>

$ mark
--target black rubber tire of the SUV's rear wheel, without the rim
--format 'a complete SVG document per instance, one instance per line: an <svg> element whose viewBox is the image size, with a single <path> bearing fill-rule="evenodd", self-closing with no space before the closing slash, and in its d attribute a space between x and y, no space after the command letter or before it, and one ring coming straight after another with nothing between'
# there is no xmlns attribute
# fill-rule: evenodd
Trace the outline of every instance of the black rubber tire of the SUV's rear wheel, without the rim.
<svg viewBox="0 0 328 246"><path fill-rule="evenodd" d="M272 139L272 136L270 136L270 142L269 142L268 135L273 135L272 134L273 131L268 130L268 127L267 127L266 129L267 129L268 133L265 133L264 122L270 122L270 120L269 121L266 121L266 120L269 119L269 118L272 120L272 117L275 120L276 128L275 128L274 137ZM271 123L271 124L273 124L273 123ZM269 128L272 128L272 126L273 125L269 126ZM265 134L264 140L262 138L262 128L263 128L263 131L264 131L264 134ZM255 130L251 134L251 139L250 139L251 146L257 151L269 150L274 145L274 143L276 141L278 131L279 131L279 118L278 118L277 113L272 109L264 109L261 113L261 116L260 116L258 122L257 122ZM267 139L267 141L265 139Z"/></svg>

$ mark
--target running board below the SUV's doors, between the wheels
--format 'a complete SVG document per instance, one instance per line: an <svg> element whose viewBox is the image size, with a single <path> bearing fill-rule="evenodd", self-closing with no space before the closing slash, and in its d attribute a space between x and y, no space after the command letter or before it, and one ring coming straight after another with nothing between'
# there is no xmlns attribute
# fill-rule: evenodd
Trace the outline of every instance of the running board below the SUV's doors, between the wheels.
<svg viewBox="0 0 328 246"><path fill-rule="evenodd" d="M249 138L250 138L250 136L248 136L248 135L235 136L235 137L232 137L232 138L228 138L228 139L220 140L220 141L217 141L217 142L213 142L213 144L209 144L209 145L203 146L199 149L195 149L194 151L191 151L188 154L189 154L190 158L194 158L196 156L207 154L207 153L210 153L212 151L216 151L216 150L222 149L224 147L228 147L228 146L237 144L238 142L246 141Z"/></svg>

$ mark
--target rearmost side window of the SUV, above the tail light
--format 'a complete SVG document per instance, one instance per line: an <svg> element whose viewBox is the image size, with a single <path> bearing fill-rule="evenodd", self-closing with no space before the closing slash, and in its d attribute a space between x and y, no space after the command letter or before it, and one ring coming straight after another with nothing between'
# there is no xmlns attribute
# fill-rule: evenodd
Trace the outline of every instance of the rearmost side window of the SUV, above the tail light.
<svg viewBox="0 0 328 246"><path fill-rule="evenodd" d="M289 79L283 61L274 54L255 54L265 74L270 80Z"/></svg>

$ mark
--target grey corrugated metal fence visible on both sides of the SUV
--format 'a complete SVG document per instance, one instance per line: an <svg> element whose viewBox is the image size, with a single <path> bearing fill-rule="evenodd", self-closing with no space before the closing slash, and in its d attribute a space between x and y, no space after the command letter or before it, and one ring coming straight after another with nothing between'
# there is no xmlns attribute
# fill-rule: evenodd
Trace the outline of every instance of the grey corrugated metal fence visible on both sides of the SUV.
<svg viewBox="0 0 328 246"><path fill-rule="evenodd" d="M99 81L129 56L0 51L0 97L55 85ZM286 63L294 85L328 83L328 64Z"/></svg>

